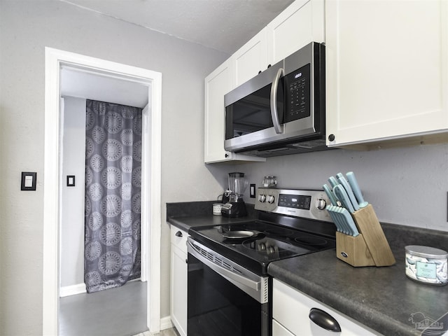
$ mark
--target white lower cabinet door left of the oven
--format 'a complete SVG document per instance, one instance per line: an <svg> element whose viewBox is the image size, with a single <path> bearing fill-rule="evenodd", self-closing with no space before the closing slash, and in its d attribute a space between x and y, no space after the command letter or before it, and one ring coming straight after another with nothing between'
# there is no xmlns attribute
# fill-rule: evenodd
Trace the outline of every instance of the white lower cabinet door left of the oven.
<svg viewBox="0 0 448 336"><path fill-rule="evenodd" d="M171 319L181 336L187 335L187 237L171 228Z"/></svg>

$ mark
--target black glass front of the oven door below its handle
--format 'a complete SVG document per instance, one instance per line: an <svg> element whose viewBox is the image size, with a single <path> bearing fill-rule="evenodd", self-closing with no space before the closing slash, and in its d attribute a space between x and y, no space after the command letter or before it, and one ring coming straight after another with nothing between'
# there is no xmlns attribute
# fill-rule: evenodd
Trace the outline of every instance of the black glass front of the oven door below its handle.
<svg viewBox="0 0 448 336"><path fill-rule="evenodd" d="M188 253L188 335L265 335L263 306Z"/></svg>

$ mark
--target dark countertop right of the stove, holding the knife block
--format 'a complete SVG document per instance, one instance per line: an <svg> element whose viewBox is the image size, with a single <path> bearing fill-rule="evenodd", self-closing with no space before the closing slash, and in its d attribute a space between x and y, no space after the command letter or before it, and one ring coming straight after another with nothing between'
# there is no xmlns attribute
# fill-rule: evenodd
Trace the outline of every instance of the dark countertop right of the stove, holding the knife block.
<svg viewBox="0 0 448 336"><path fill-rule="evenodd" d="M333 248L272 262L268 273L383 335L421 335L421 328L415 330L414 323L424 322L425 318L429 321L441 318L440 323L447 330L448 286L433 286L407 278L404 249L407 244L420 245L421 240L433 239L447 246L441 243L446 241L447 232L384 224L383 229L386 237L393 235L388 237L396 260L393 266L352 267L337 259ZM406 238L412 242L403 241ZM392 246L392 242L396 245ZM434 242L428 246L442 248Z"/></svg>

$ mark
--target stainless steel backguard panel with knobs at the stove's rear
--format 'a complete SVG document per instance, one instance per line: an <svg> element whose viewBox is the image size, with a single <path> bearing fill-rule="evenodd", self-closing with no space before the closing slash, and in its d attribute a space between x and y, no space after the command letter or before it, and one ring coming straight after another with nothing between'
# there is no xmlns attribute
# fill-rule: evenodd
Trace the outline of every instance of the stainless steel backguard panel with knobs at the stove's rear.
<svg viewBox="0 0 448 336"><path fill-rule="evenodd" d="M309 204L310 209L295 209L293 207L279 206L280 195L296 195L296 196L311 196ZM272 203L267 202L273 200ZM269 211L275 214L283 214L288 216L302 217L314 219L317 221L331 222L328 211L319 209L318 206L330 204L328 196L323 190L300 190L300 189L277 189L277 188L258 188L255 195L255 209L261 211Z"/></svg>

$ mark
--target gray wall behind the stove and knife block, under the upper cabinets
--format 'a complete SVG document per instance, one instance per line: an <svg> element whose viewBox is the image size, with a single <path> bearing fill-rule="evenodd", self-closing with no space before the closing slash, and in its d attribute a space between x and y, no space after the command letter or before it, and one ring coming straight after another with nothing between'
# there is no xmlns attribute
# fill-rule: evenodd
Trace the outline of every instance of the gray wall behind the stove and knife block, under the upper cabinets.
<svg viewBox="0 0 448 336"><path fill-rule="evenodd" d="M237 169L257 186L275 175L279 186L304 188L321 188L328 176L352 171L380 221L448 231L448 145L286 155Z"/></svg>

